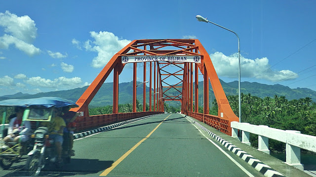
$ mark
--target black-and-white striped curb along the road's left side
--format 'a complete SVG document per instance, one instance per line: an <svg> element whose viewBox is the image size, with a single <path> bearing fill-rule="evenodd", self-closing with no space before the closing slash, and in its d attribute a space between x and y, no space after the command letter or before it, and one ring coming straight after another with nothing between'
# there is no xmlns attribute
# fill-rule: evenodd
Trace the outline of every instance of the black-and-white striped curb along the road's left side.
<svg viewBox="0 0 316 177"><path fill-rule="evenodd" d="M157 114L157 115L160 115L160 114ZM118 127L120 125L124 125L126 123L134 122L134 121L137 121L137 120L140 120L140 119L149 118L149 117L153 117L153 116L157 116L157 115L150 115L150 116L145 116L145 117L141 117L141 118L134 118L134 119L130 119L130 120L125 120L125 121L114 123L114 124L111 124L111 125L99 127L97 129L94 129L94 130L89 130L89 131L85 131L85 132L82 132L82 133L77 133L77 134L74 134L74 140L78 139L78 138L83 138L83 137L88 136L88 135L92 135L94 133L99 133L99 132L103 132L103 131L106 131L106 130L110 130L110 129Z"/></svg>

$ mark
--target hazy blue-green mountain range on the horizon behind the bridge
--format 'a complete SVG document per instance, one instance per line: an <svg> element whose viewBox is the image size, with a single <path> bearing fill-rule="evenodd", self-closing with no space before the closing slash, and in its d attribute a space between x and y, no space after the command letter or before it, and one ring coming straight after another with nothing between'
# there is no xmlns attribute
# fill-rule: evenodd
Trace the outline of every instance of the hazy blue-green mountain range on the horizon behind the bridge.
<svg viewBox="0 0 316 177"><path fill-rule="evenodd" d="M226 95L237 95L238 94L238 82L230 82L225 83L224 81L220 80L222 87L226 93ZM138 82L137 84L140 84ZM179 85L181 86L181 85ZM297 89L290 89L289 87L282 86L279 84L276 85L266 85L260 83L250 83L250 82L241 82L241 92L244 94L250 93L253 96L258 96L264 98L266 96L273 97L274 95L278 96L285 96L286 99L300 99L310 97L313 101L316 101L316 91L306 88L297 88ZM69 90L60 90L60 91L50 91L50 92L41 92L37 94L27 94L27 93L16 93L12 95L3 95L0 96L0 100L5 99L12 99L12 98L37 98L42 96L57 96L62 97L65 99L77 101L82 93L87 89L88 86L83 88L77 89L69 89ZM102 87L99 89L97 94L92 99L89 107L101 107L112 105L113 102L113 83L104 83ZM198 92L199 92L199 99L202 99L203 93L203 82L198 82ZM193 89L194 91L194 89ZM146 102L149 103L149 87L146 87ZM129 83L120 83L118 85L118 104L126 104L132 103L132 93L133 93L133 82ZM154 90L152 91L154 93ZM180 94L175 89L170 89L166 92L168 95L178 95ZM210 99L214 100L215 96L210 85L209 87L209 95ZM142 104L143 100L143 84L137 87L137 99ZM176 102L170 102L169 106L180 106Z"/></svg>

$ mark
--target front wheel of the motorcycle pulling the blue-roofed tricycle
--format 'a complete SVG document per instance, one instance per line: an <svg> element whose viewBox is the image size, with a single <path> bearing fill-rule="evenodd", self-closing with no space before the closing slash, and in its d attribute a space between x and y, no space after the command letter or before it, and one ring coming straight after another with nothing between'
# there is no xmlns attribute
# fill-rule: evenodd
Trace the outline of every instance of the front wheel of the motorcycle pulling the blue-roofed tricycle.
<svg viewBox="0 0 316 177"><path fill-rule="evenodd" d="M29 176L39 176L41 170L40 151L29 155L25 164L25 169L29 172Z"/></svg>

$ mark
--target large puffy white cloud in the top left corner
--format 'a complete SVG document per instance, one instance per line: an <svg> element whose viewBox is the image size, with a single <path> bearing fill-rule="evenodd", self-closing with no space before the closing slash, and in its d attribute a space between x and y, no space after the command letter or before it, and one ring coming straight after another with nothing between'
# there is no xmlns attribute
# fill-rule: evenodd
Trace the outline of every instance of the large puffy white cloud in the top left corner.
<svg viewBox="0 0 316 177"><path fill-rule="evenodd" d="M27 15L18 17L9 11L0 13L0 26L5 34L0 36L0 49L8 49L11 44L29 56L40 53L40 49L31 44L37 36L35 22Z"/></svg>

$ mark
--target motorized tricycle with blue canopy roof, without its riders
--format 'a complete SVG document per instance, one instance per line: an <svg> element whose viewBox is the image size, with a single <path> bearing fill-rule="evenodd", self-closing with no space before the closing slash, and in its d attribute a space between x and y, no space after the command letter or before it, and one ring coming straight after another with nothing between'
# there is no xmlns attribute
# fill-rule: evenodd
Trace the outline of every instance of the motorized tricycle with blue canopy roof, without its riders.
<svg viewBox="0 0 316 177"><path fill-rule="evenodd" d="M54 140L50 139L51 132L48 132L47 126L42 126L42 122L51 122L55 117L54 110L68 107L75 108L78 105L67 99L59 97L41 97L31 99L10 99L0 101L0 106L10 105L24 107L24 115L22 121L30 121L35 124L35 131L31 135L30 142L32 144L32 150L27 153L28 158L25 164L25 170L29 172L30 176L39 176L41 169L47 164L55 164L58 167L56 148ZM48 125L49 125L48 123ZM45 124L45 123L44 123ZM64 139L67 142L68 138ZM65 145L69 145L65 143ZM71 150L69 147L63 147L63 159L64 162L70 162ZM1 163L1 162L0 162ZM8 165L7 165L8 166Z"/></svg>

